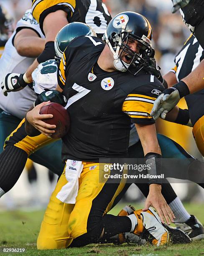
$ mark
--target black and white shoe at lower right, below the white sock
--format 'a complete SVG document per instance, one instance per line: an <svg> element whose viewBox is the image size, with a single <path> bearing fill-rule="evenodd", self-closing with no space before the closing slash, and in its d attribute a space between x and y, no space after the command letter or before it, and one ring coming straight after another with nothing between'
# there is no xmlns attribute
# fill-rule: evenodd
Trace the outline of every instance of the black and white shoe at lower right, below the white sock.
<svg viewBox="0 0 204 256"><path fill-rule="evenodd" d="M175 223L176 228L183 230L192 240L201 240L204 238L204 227L194 215L185 223Z"/></svg>

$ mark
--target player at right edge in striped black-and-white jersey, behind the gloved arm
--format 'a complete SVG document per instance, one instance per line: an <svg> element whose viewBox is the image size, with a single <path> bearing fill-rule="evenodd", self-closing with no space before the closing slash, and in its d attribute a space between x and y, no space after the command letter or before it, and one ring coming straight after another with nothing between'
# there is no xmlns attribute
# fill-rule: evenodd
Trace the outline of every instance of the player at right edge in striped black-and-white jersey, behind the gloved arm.
<svg viewBox="0 0 204 256"><path fill-rule="evenodd" d="M176 66L164 76L164 79L168 83L168 87L171 87L176 82L179 82L184 77L188 76L199 66L200 62L203 62L203 59L204 50L199 44L197 38L191 34L182 49L175 56ZM196 145L201 154L204 156L203 95L204 89L191 95L187 95L185 100L188 110L179 110L179 108L175 107L173 111L178 113L178 119L183 121L182 124L187 124L188 120L191 120ZM163 116L163 119L165 119L165 116ZM166 118L166 120L168 120L168 118Z"/></svg>

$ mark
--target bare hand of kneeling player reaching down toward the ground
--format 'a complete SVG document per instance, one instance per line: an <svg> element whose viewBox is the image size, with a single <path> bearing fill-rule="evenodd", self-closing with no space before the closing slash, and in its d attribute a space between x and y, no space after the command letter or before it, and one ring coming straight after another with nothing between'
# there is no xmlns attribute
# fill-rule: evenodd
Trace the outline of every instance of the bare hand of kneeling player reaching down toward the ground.
<svg viewBox="0 0 204 256"><path fill-rule="evenodd" d="M166 221L166 223L170 225L171 222L173 223L173 219L175 218L175 216L171 208L168 206L163 195L161 194L161 185L150 184L149 189L149 195L146 199L143 211L147 211L150 206L154 207L158 212L161 222L165 223Z"/></svg>

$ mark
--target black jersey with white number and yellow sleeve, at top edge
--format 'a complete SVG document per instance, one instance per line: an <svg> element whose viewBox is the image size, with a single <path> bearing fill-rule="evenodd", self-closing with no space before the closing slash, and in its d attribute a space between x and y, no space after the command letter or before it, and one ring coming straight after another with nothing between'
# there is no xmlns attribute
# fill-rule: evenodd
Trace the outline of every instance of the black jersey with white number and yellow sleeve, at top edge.
<svg viewBox="0 0 204 256"><path fill-rule="evenodd" d="M102 0L32 0L32 14L40 23L42 30L46 15L59 9L68 13L69 23L86 23L94 29L98 37L103 36L111 20L111 15Z"/></svg>

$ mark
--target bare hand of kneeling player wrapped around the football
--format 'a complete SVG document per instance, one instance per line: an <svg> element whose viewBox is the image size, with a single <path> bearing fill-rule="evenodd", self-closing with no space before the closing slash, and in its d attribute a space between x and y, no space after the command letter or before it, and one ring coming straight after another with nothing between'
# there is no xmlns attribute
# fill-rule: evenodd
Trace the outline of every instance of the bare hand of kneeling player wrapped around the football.
<svg viewBox="0 0 204 256"><path fill-rule="evenodd" d="M55 132L53 129L56 128L56 125L50 125L43 122L43 119L52 118L52 114L40 114L41 108L49 102L50 101L42 102L26 114L26 120L28 123L33 125L34 128L46 136L51 136Z"/></svg>

